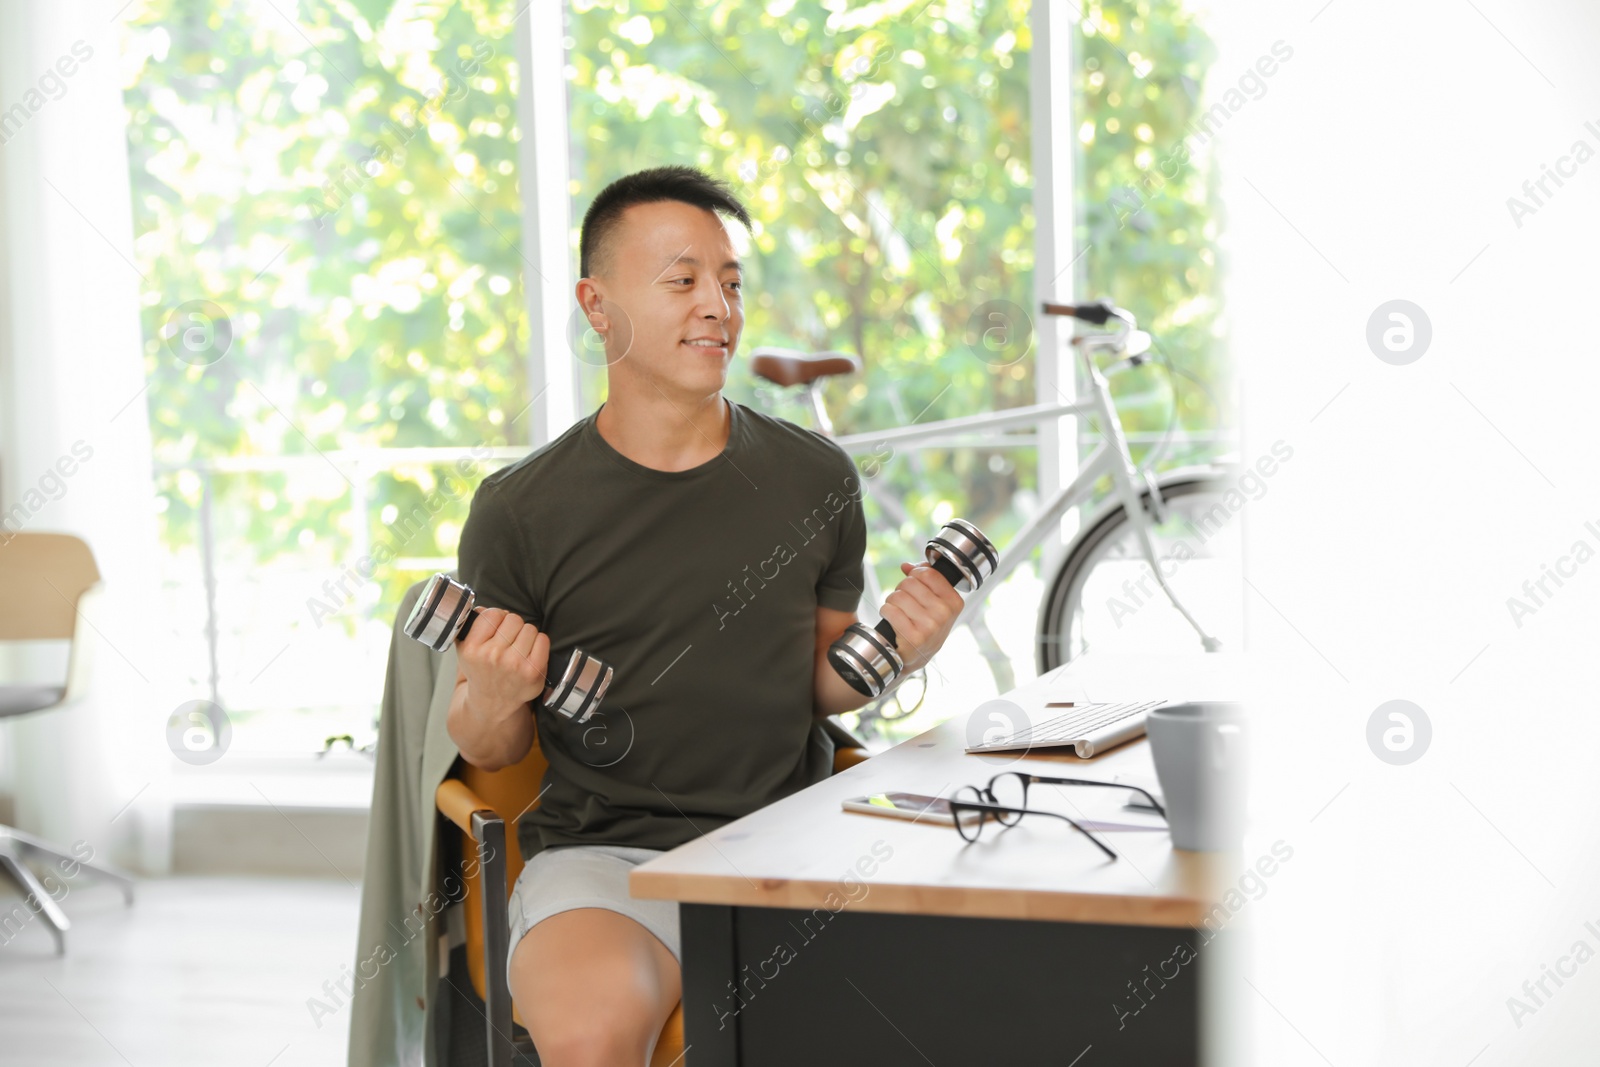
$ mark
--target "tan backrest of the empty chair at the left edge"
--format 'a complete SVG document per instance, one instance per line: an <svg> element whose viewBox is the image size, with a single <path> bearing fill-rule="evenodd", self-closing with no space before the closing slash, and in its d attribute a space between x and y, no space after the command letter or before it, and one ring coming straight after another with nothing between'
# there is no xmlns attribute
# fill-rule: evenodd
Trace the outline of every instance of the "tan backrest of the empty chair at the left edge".
<svg viewBox="0 0 1600 1067"><path fill-rule="evenodd" d="M19 533L0 541L0 641L70 640L78 598L98 581L82 537Z"/></svg>

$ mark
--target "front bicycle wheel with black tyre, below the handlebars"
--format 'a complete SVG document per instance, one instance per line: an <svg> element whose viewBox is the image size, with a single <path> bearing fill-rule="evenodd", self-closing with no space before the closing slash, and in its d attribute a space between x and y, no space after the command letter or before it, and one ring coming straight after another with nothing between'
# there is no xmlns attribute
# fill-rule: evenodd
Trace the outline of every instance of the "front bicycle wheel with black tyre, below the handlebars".
<svg viewBox="0 0 1600 1067"><path fill-rule="evenodd" d="M1184 608L1224 648L1243 643L1243 568L1238 512L1245 496L1222 474L1157 478L1160 522L1141 496L1162 576ZM1040 603L1040 673L1090 648L1126 653L1200 651L1200 635L1173 608L1139 549L1128 510L1101 510L1074 539Z"/></svg>

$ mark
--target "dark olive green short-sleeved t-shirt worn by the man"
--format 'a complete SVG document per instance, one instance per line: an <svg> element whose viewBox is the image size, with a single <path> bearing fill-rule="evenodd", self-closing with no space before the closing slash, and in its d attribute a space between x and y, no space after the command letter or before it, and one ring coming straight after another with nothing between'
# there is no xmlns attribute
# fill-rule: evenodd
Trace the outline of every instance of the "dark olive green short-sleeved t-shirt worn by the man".
<svg viewBox="0 0 1600 1067"><path fill-rule="evenodd" d="M550 766L517 825L550 845L675 848L818 782L816 608L854 611L866 522L850 456L726 402L728 445L690 470L611 448L595 414L483 478L461 581L616 675L584 725L538 707Z"/></svg>

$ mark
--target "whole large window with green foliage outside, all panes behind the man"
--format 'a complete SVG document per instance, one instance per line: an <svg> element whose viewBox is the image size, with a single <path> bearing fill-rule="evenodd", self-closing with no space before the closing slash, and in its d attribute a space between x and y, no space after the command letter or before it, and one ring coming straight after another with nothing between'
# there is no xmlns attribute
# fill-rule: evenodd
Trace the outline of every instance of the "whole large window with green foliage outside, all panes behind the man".
<svg viewBox="0 0 1600 1067"><path fill-rule="evenodd" d="M534 440L514 43L526 11L128 10L165 617L194 694L227 709L245 750L371 739L402 592L454 563L472 488ZM840 432L1035 400L1034 357L986 358L984 339L995 302L1032 310L1050 195L1034 184L1043 59L1026 0L576 0L565 27L574 269L576 221L605 182L691 163L758 222L746 350L862 357L861 376L827 387ZM1130 379L1136 445L1176 435L1168 462L1208 454L1224 419L1221 392L1194 384L1219 366L1203 155L1149 181L1197 114L1206 42L1178 0L1086 6L1074 38L1058 62L1075 72L1075 288L1154 326L1181 386L1174 416L1166 374ZM605 389L582 352L581 414ZM808 422L742 363L730 395ZM870 552L893 585L949 515L1002 542L1026 520L1034 438L904 450L877 483ZM992 622L1026 678L1038 579L1013 585ZM886 736L984 696L981 665L947 673L978 688Z"/></svg>

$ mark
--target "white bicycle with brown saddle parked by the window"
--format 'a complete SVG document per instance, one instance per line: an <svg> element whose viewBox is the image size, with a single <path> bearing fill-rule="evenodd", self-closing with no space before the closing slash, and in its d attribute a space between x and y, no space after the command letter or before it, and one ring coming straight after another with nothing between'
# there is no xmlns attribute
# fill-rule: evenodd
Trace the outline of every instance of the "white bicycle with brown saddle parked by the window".
<svg viewBox="0 0 1600 1067"><path fill-rule="evenodd" d="M1150 362L1150 336L1138 328L1131 312L1107 301L1083 306L1045 304L1045 314L1067 315L1096 326L1099 333L1072 338L1088 395L1074 403L1043 403L986 414L942 419L867 434L835 435L822 403L822 382L861 370L856 357L843 352L798 352L760 347L750 352L750 370L779 387L803 387L818 430L832 437L853 456L882 454L885 445L899 448L938 442L981 438L1054 419L1086 418L1098 424L1099 440L1082 461L1069 485L1056 490L1002 547L994 576L970 595L957 625L971 630L989 664L997 691L1014 686L1014 670L995 640L986 609L990 595L1027 561L1046 537L1062 528L1072 509L1094 498L1096 485L1109 480L1110 493L1101 507L1067 541L1038 605L1034 633L1038 672L1043 673L1090 648L1128 651L1218 651L1238 645L1243 637L1242 573L1237 523L1230 493L1237 496L1227 466L1179 467L1154 474L1158 456L1136 464L1112 398L1109 379L1120 371ZM866 493L886 514L904 520L904 509L875 478L862 478ZM970 517L976 518L976 517ZM930 526L931 530L931 526ZM864 608L882 601L874 568L866 568ZM1190 603L1198 611L1190 611ZM925 691L925 680L922 681ZM864 718L898 718L915 710L899 689L864 709Z"/></svg>

